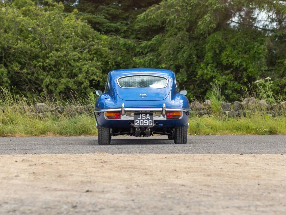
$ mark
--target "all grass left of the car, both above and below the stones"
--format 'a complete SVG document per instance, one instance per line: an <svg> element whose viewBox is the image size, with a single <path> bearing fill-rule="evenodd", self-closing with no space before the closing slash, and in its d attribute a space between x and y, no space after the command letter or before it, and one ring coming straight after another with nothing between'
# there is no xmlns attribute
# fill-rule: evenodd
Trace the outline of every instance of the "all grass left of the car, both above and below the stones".
<svg viewBox="0 0 286 215"><path fill-rule="evenodd" d="M44 116L30 114L29 105L44 102L49 108L57 105L85 105L88 99L81 99L75 94L70 100L58 100L55 97L36 97L27 99L17 96L8 90L0 89L0 136L74 136L74 135L96 135L96 120L87 114L75 117L62 115L55 117L47 112Z"/></svg>

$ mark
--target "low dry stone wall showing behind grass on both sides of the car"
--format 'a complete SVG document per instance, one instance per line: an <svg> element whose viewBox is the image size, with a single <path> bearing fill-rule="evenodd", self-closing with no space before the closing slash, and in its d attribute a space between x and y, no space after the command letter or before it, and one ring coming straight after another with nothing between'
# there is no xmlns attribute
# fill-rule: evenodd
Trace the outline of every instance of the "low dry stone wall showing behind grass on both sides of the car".
<svg viewBox="0 0 286 215"><path fill-rule="evenodd" d="M267 104L265 100L257 100L254 97L251 97L245 98L242 102L222 102L220 106L220 114L229 117L246 116L247 114L253 114L257 111L264 111L269 116L286 115L286 101L281 102L279 105ZM195 116L206 116L214 114L214 110L212 109L212 103L210 100L205 100L203 103L192 102L190 104L190 107L192 110L192 115ZM9 107L9 109L16 110L19 113L28 114L30 116L36 116L40 118L44 117L49 113L56 117L74 117L78 114L88 114L89 116L93 116L94 114L94 105L66 105L49 107L45 103L37 103L31 106L13 105ZM0 107L0 111L5 112L6 110L4 107Z"/></svg>

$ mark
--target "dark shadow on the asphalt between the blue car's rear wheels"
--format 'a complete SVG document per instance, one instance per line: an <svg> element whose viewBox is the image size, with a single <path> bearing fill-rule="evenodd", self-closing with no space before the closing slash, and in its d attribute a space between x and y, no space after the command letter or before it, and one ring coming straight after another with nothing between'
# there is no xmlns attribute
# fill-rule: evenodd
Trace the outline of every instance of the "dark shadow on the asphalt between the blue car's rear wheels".
<svg viewBox="0 0 286 215"><path fill-rule="evenodd" d="M111 139L110 145L170 145L173 140L168 139Z"/></svg>

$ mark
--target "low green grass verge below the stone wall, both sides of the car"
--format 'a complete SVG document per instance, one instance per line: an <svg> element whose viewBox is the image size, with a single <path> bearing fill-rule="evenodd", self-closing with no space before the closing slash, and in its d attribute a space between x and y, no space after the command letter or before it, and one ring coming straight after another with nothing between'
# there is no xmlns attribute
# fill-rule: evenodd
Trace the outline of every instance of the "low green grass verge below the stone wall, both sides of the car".
<svg viewBox="0 0 286 215"><path fill-rule="evenodd" d="M44 118L21 114L14 110L0 111L0 136L80 136L97 135L95 119L87 114L73 118ZM286 134L286 117L269 117L256 113L242 118L216 116L192 117L190 135Z"/></svg>

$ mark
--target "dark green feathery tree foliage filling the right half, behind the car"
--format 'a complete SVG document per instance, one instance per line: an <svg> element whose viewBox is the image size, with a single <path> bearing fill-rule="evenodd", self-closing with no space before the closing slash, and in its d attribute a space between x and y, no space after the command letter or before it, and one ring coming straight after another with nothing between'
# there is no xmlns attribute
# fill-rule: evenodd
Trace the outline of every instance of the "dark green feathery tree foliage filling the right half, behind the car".
<svg viewBox="0 0 286 215"><path fill-rule="evenodd" d="M285 47L285 8L281 1L161 1L137 18L151 38L137 61L174 70L189 98L203 98L216 79L226 99L239 99L248 83L268 75L280 77L278 94L286 86L285 65L278 63L285 51L276 43ZM268 16L265 23L257 11Z"/></svg>

